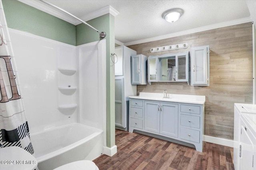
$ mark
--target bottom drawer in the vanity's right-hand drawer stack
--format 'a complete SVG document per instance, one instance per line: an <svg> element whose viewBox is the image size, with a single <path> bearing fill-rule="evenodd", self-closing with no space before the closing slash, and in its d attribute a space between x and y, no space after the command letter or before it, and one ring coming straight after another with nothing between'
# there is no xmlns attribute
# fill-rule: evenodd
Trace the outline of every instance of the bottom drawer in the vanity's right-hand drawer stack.
<svg viewBox="0 0 256 170"><path fill-rule="evenodd" d="M180 139L185 139L188 141L200 143L200 131L181 127L180 128Z"/></svg>

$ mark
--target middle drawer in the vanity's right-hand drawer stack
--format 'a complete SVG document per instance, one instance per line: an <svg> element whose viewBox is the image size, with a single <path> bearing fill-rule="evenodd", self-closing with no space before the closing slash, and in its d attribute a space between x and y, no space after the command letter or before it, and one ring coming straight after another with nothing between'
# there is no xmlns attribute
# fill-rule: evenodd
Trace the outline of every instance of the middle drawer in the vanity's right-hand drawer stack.
<svg viewBox="0 0 256 170"><path fill-rule="evenodd" d="M200 117L180 114L180 125L200 128Z"/></svg>

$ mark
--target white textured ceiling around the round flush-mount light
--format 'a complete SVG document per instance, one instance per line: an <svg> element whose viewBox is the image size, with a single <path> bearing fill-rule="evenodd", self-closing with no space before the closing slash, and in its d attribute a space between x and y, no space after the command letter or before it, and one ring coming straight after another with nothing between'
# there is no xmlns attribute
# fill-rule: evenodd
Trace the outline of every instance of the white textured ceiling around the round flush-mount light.
<svg viewBox="0 0 256 170"><path fill-rule="evenodd" d="M115 39L129 43L250 17L245 0L47 0L82 18L108 5L115 17ZM162 13L181 8L180 20L168 23ZM104 30L100 30L104 31Z"/></svg>

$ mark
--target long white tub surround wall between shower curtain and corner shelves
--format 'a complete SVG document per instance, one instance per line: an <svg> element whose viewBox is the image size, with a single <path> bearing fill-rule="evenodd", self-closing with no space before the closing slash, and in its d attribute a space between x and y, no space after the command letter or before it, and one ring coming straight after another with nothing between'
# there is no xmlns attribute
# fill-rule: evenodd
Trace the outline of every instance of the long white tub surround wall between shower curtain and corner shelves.
<svg viewBox="0 0 256 170"><path fill-rule="evenodd" d="M30 133L77 122L77 92L62 94L58 86L77 86L77 73L66 76L58 68L76 68L76 47L9 29Z"/></svg>

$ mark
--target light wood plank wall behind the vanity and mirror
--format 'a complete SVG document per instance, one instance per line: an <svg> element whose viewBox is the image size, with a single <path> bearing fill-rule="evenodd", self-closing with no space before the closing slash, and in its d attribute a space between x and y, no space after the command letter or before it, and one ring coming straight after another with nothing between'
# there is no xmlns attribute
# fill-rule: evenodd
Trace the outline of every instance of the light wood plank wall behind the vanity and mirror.
<svg viewBox="0 0 256 170"><path fill-rule="evenodd" d="M150 48L188 43L188 49L150 53ZM210 86L186 82L152 82L138 85L139 92L206 96L204 134L233 139L234 103L252 104L252 23L243 23L199 33L128 46L137 54L162 55L210 45ZM190 77L190 75L189 75Z"/></svg>

